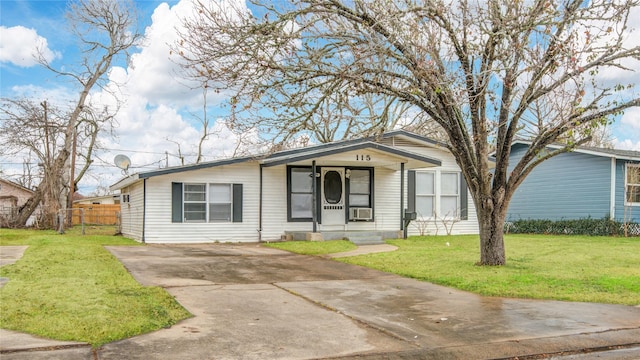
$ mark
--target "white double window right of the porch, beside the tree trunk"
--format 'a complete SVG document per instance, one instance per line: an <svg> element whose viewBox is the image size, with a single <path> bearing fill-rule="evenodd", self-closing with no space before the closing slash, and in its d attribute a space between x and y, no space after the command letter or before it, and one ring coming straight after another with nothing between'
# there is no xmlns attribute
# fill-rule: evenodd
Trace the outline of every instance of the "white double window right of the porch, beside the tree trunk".
<svg viewBox="0 0 640 360"><path fill-rule="evenodd" d="M460 173L416 172L415 210L418 217L460 217L460 202Z"/></svg>

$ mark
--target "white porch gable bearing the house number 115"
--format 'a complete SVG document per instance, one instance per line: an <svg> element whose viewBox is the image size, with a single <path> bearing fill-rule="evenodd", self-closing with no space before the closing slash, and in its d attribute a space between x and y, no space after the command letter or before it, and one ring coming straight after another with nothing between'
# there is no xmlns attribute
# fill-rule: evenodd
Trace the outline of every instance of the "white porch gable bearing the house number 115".
<svg viewBox="0 0 640 360"><path fill-rule="evenodd" d="M287 156L262 160L263 166L277 165L310 165L315 160L317 166L362 166L384 167L400 170L402 163L405 169L418 169L440 166L441 162L414 152L374 142L363 142L348 146L328 149L301 149L300 152Z"/></svg>

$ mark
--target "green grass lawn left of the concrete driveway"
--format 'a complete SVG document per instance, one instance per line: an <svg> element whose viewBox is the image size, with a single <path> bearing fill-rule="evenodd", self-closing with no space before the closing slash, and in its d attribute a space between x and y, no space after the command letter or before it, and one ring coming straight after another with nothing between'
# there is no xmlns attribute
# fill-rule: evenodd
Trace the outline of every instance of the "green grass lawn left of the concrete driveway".
<svg viewBox="0 0 640 360"><path fill-rule="evenodd" d="M78 233L0 229L0 246L29 245L0 268L10 279L0 289L0 327L98 347L191 316L164 289L138 284L103 247L138 243Z"/></svg>

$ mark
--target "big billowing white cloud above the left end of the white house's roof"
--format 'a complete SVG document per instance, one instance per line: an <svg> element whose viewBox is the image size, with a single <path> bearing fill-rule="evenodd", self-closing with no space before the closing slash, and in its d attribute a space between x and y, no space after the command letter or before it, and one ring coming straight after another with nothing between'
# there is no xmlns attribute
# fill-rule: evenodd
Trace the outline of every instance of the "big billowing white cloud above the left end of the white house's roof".
<svg viewBox="0 0 640 360"><path fill-rule="evenodd" d="M190 0L182 0L173 7L160 4L145 31L145 41L129 66L114 67L109 72L107 90L119 94L122 103L116 117L117 139L102 139L104 147L111 149L103 159L112 162L119 153L129 156L130 173L164 167L167 163L180 165L179 152L185 157L185 164L195 161L202 125L194 120L198 115L190 113L201 113L202 89L194 88L195 83L187 86L189 81L180 77L181 68L170 53L170 45L178 39L176 28L180 27L180 19L192 11ZM115 106L107 92L94 94L92 98ZM215 119L215 105L224 95L208 95L207 103L211 105L208 117ZM203 144L204 161L232 156L240 141L238 136L222 120L209 126L211 135ZM244 134L247 137L257 139L257 134ZM101 185L115 183L122 176L119 169L111 167L109 174L101 176Z"/></svg>

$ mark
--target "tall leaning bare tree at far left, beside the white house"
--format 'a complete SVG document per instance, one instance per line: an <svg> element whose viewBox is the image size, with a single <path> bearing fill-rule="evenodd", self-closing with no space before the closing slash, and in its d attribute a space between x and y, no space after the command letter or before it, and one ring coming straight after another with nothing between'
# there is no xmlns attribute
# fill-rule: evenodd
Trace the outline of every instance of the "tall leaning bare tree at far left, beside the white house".
<svg viewBox="0 0 640 360"><path fill-rule="evenodd" d="M71 79L77 86L78 98L59 129L60 145L55 149L56 151L53 149L48 151L51 156L50 166L43 173L42 182L36 188L34 196L19 209L16 224L26 223L47 191L51 196L56 194L56 200L59 203L57 207L67 206L70 201L67 199L70 193L71 171L69 170L73 162L71 154L75 144L76 129L81 121L88 121L91 118L83 118L83 114L88 114L90 92L95 87L103 86L106 80L105 74L111 64L118 57L126 56L127 51L138 42L141 36L134 28L137 22L136 13L133 4L128 1L74 0L69 4L67 19L72 35L78 41L81 53L79 63L75 65L67 63L63 69L57 69L46 61L41 52L37 59L41 65L55 74ZM113 114L109 116L111 115ZM46 119L47 116L44 118ZM97 125L96 122L93 124ZM48 127L45 126L45 129Z"/></svg>

